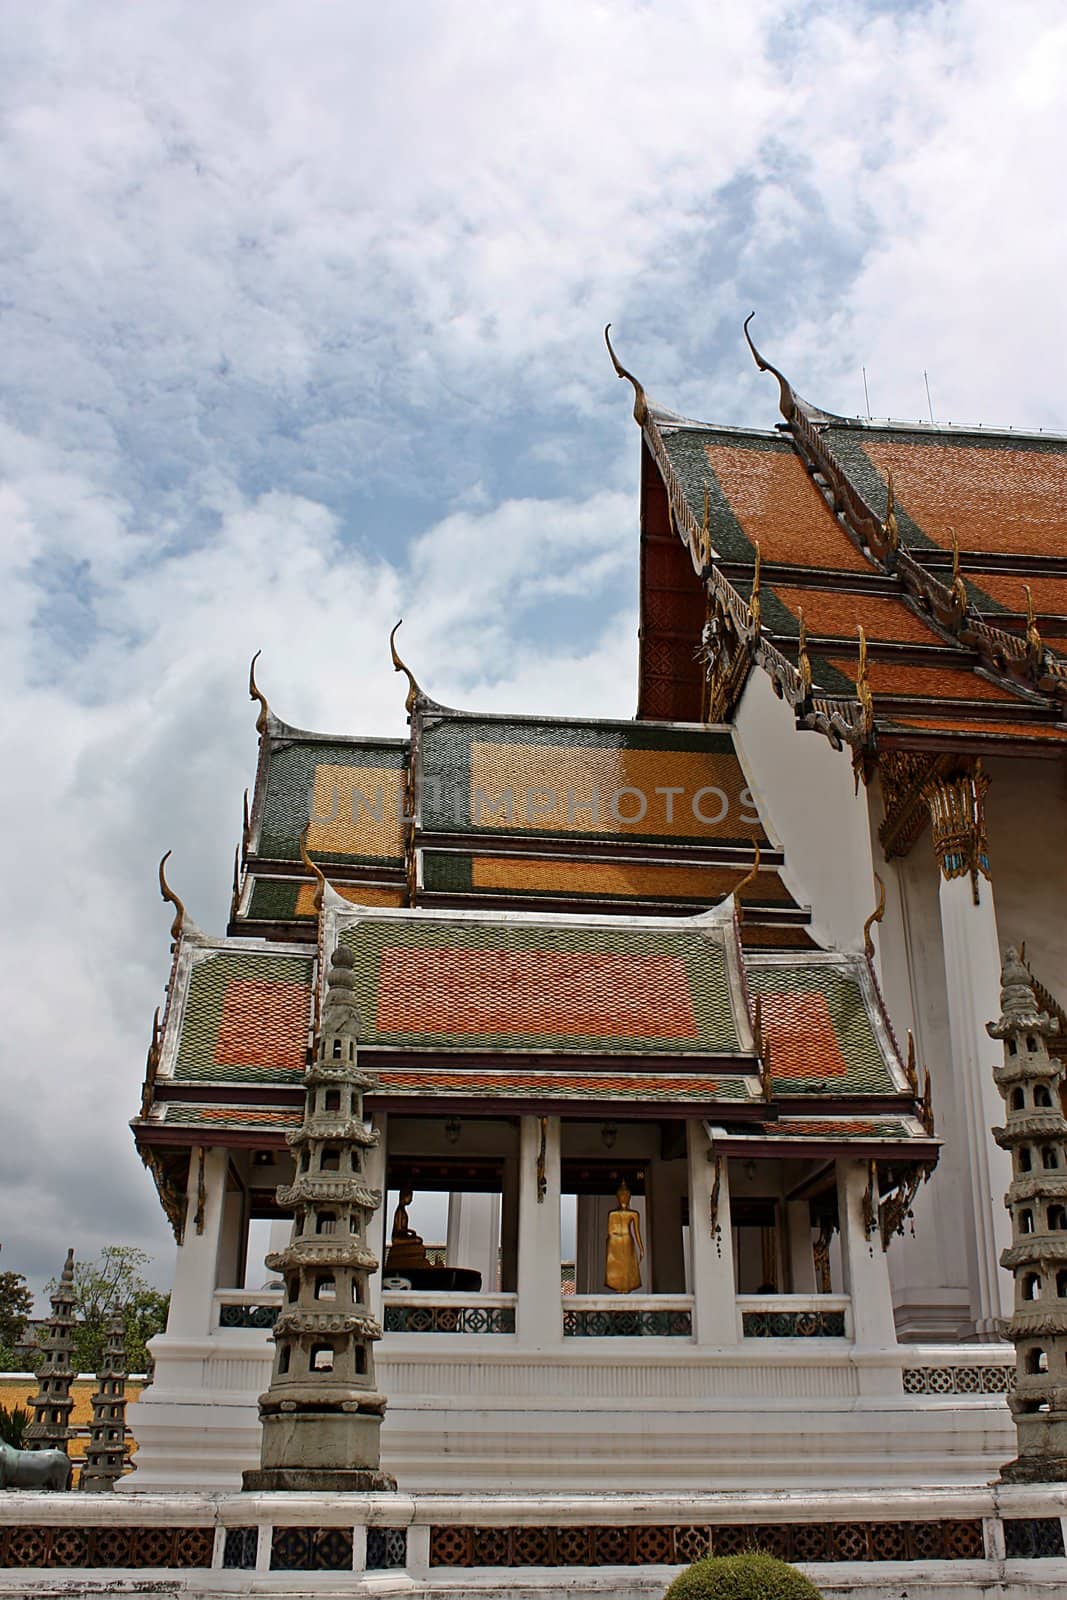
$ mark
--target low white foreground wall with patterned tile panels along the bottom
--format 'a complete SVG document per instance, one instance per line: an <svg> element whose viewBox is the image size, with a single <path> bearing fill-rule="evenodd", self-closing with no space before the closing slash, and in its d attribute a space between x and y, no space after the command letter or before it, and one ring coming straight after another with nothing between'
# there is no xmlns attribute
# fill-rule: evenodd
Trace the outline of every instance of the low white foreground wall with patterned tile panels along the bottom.
<svg viewBox="0 0 1067 1600"><path fill-rule="evenodd" d="M0 1496L0 1597L659 1600L753 1546L827 1600L1057 1600L1059 1485L590 1494Z"/></svg>

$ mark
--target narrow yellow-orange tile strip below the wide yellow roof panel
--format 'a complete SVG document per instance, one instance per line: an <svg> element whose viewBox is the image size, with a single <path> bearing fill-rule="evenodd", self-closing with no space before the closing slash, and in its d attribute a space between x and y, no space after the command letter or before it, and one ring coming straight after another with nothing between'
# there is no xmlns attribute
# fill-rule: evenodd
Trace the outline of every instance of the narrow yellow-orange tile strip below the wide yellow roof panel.
<svg viewBox="0 0 1067 1600"><path fill-rule="evenodd" d="M649 861L581 861L427 851L422 883L453 894L576 896L595 899L693 901L713 906L744 877L744 867L675 866ZM795 906L777 872L761 870L744 891L745 906Z"/></svg>

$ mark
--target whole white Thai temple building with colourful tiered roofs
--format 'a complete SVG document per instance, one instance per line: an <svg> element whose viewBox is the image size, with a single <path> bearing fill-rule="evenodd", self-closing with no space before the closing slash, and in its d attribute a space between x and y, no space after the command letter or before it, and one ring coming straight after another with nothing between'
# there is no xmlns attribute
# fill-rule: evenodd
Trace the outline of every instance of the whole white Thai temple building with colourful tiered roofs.
<svg viewBox="0 0 1067 1600"><path fill-rule="evenodd" d="M259 1464L283 1290L250 1237L286 1259L334 952L402 1491L984 1485L1017 1454L987 1024L1014 946L1065 1059L1067 440L835 416L753 355L758 430L616 366L632 720L581 683L569 718L442 706L400 638L403 739L291 726L253 674L230 923L176 902L133 1122L179 1248L123 1490Z"/></svg>

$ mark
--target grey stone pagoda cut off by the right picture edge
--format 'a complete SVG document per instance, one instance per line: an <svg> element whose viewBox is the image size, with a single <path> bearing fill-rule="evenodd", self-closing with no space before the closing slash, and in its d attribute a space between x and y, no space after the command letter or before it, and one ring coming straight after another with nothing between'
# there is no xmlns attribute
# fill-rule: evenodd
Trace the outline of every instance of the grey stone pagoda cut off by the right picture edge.
<svg viewBox="0 0 1067 1600"><path fill-rule="evenodd" d="M1001 1472L1009 1482L1067 1480L1067 1118L1064 1062L1049 1056L1059 1019L1038 1011L1032 981L1016 949L1001 973L1003 1066L993 1069L1005 1098L1006 1126L993 1128L1011 1154L1013 1243L1000 1261L1016 1278L1014 1315L1005 1331L1016 1347L1016 1390L1009 1397L1019 1456Z"/></svg>

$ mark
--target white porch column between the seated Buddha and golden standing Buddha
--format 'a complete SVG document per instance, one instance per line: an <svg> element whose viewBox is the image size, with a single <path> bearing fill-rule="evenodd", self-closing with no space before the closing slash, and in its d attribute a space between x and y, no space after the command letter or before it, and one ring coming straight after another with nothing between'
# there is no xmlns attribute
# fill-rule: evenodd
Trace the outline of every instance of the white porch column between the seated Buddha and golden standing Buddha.
<svg viewBox="0 0 1067 1600"><path fill-rule="evenodd" d="M544 1141L544 1142L542 1142ZM544 1195L537 1197L539 1166ZM518 1138L518 1342L563 1339L560 1296L560 1118L523 1117Z"/></svg>

